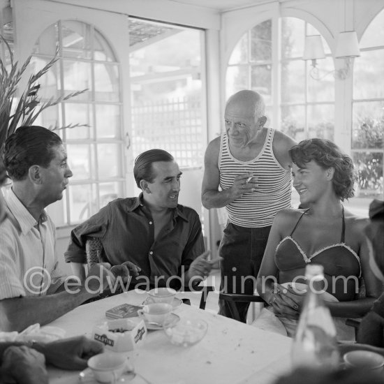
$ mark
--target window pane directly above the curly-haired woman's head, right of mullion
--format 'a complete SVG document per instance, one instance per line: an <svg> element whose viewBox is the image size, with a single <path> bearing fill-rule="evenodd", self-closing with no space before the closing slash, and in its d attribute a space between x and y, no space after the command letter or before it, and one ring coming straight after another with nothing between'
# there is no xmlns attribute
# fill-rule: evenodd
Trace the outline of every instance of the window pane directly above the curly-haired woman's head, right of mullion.
<svg viewBox="0 0 384 384"><path fill-rule="evenodd" d="M309 138L334 138L334 105L309 105Z"/></svg>

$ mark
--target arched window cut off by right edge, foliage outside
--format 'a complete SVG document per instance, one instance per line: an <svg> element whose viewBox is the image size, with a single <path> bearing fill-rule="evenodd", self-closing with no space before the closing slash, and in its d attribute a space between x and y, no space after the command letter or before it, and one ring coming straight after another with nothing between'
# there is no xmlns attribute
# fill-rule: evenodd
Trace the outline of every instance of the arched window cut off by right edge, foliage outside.
<svg viewBox="0 0 384 384"><path fill-rule="evenodd" d="M384 10L360 40L353 78L352 154L358 170L357 197L383 199Z"/></svg>

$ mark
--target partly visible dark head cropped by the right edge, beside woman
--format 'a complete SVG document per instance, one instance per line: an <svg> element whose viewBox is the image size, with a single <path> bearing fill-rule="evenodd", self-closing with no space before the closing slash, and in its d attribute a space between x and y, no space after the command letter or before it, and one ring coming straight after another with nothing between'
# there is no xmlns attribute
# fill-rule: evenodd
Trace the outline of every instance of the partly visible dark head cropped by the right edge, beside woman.
<svg viewBox="0 0 384 384"><path fill-rule="evenodd" d="M369 223L364 233L369 247L369 265L384 283L384 201L373 200L369 205Z"/></svg>

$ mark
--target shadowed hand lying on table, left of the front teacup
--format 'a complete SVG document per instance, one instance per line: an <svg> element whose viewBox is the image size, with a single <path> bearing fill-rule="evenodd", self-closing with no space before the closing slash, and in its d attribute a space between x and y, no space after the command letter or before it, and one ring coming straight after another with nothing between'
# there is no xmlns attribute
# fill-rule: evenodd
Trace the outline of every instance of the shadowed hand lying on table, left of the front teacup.
<svg viewBox="0 0 384 384"><path fill-rule="evenodd" d="M61 369L84 369L89 357L102 353L104 347L87 337L71 337L36 347L44 353L47 363Z"/></svg>

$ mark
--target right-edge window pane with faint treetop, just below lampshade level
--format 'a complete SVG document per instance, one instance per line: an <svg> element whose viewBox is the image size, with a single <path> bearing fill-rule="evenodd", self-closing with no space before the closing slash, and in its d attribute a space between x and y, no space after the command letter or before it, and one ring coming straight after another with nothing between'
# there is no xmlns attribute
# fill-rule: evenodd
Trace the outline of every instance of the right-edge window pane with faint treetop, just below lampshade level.
<svg viewBox="0 0 384 384"><path fill-rule="evenodd" d="M384 101L353 103L353 148L382 148Z"/></svg>

